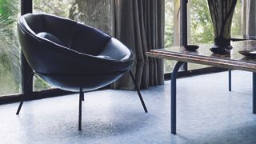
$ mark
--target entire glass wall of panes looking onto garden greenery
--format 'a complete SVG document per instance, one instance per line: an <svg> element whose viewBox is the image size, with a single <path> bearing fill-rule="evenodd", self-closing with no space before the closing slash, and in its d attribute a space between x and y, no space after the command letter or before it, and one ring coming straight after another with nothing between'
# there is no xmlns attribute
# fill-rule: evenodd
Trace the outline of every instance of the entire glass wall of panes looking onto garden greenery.
<svg viewBox="0 0 256 144"><path fill-rule="evenodd" d="M16 34L19 0L0 1L0 96L21 93L20 49ZM95 26L113 34L114 0L33 0L34 13L54 14ZM179 36L179 0L165 0L165 46L177 46ZM235 10L232 35L241 37L242 1ZM213 28L206 0L191 0L188 4L189 43L213 43ZM171 72L174 61L165 62L165 72ZM189 70L205 66L189 64ZM46 90L50 86L37 76L34 90Z"/></svg>

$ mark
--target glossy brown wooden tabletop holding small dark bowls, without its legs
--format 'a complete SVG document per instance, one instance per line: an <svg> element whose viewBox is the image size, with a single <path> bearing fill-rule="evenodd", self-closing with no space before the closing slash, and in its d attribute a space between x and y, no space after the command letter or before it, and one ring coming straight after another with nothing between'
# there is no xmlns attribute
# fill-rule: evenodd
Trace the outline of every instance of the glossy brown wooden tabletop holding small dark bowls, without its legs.
<svg viewBox="0 0 256 144"><path fill-rule="evenodd" d="M183 46L174 46L150 50L146 55L154 58L166 58L181 62L193 62L227 69L256 72L256 57L245 57L238 53L240 50L256 51L256 41L231 42L233 49L230 51L230 54L225 55L213 54L210 51L211 46L199 45L199 49L195 51L188 51Z"/></svg>

